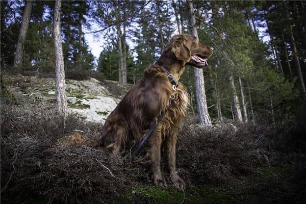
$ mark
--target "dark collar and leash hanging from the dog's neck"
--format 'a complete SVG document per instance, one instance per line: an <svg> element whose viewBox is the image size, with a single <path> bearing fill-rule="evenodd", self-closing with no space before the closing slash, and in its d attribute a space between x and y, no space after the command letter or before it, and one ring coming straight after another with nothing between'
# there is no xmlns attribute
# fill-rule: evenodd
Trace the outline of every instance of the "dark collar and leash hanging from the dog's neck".
<svg viewBox="0 0 306 204"><path fill-rule="evenodd" d="M164 67L164 66L160 66L164 72L167 74L168 80L170 81L170 83L172 84L172 89L175 91L176 87L179 85L179 83L177 83L177 81L175 81L173 75ZM169 107L172 105L172 101L174 100L174 97L170 97L170 103L169 103ZM132 155L132 160L134 159L134 157L138 154L139 150L141 149L141 147L144 145L145 141L150 137L150 135L152 134L152 132L156 129L157 125L160 123L160 121L163 119L165 113L167 112L167 109L165 111L162 111L161 114L159 116L157 116L157 121L155 122L155 124L151 125L149 132L142 138L142 140L140 141L138 147L135 149L135 151L133 152Z"/></svg>

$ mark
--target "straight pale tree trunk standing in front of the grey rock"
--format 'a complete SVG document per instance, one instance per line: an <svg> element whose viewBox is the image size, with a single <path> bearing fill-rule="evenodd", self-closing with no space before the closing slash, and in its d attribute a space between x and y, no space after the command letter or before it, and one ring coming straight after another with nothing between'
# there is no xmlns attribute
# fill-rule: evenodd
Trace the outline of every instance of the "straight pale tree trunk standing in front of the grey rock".
<svg viewBox="0 0 306 204"><path fill-rule="evenodd" d="M57 99L57 112L66 115L67 102L65 93L64 57L61 40L61 1L56 0L53 19L53 34L55 47L55 86Z"/></svg>

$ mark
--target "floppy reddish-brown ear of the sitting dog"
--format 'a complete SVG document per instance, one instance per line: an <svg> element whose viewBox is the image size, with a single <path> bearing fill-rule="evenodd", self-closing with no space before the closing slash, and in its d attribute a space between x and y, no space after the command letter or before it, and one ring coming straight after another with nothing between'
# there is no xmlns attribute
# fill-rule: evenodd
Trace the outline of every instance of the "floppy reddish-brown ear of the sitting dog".
<svg viewBox="0 0 306 204"><path fill-rule="evenodd" d="M190 48L187 46L185 35L174 36L171 52L178 60L189 62L191 58Z"/></svg>

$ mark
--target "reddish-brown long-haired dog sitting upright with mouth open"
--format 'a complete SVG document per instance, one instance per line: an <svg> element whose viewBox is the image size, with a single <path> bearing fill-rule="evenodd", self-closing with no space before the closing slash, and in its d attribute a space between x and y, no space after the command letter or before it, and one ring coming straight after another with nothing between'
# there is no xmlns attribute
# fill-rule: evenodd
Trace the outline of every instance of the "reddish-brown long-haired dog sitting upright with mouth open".
<svg viewBox="0 0 306 204"><path fill-rule="evenodd" d="M179 81L186 64L198 68L206 67L206 58L212 53L211 47L200 44L194 36L173 36L157 63L144 71L143 78L127 92L109 115L98 145L106 146L113 154L117 154L125 148L127 142L134 139L140 141L157 116L167 109L162 121L148 139L152 180L157 186L167 188L160 167L161 143L165 140L171 180L177 188L184 189L185 183L176 172L175 143L189 105L189 97L182 84L173 90L161 66ZM170 97L174 100L169 107Z"/></svg>

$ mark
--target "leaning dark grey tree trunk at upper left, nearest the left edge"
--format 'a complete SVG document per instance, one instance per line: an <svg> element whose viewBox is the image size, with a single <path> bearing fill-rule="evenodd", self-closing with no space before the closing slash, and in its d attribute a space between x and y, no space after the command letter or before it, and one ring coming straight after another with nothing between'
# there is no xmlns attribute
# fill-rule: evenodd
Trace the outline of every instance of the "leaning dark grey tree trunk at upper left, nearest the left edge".
<svg viewBox="0 0 306 204"><path fill-rule="evenodd" d="M19 32L17 46L16 46L16 53L15 53L15 58L14 58L14 66L13 66L14 69L20 68L23 62L23 52L24 52L23 46L24 46L25 36L27 36L27 31L29 28L32 5L33 5L33 1L25 2L25 8L24 8L23 16L22 16L22 22L21 22L20 32Z"/></svg>

